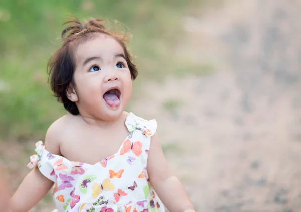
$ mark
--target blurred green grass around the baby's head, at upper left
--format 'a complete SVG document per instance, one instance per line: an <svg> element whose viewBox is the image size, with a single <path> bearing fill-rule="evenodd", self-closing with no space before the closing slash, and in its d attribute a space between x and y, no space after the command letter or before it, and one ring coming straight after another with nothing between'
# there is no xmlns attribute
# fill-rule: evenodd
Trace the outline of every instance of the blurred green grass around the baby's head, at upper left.
<svg viewBox="0 0 301 212"><path fill-rule="evenodd" d="M48 87L46 64L60 44L57 37L66 16L124 23L133 34L130 49L140 71L135 82L139 87L145 80L182 74L181 70L195 73L194 64L181 60L174 50L183 35L181 17L200 4L202 1L182 0L2 0L0 138L43 139L48 126L65 113Z"/></svg>

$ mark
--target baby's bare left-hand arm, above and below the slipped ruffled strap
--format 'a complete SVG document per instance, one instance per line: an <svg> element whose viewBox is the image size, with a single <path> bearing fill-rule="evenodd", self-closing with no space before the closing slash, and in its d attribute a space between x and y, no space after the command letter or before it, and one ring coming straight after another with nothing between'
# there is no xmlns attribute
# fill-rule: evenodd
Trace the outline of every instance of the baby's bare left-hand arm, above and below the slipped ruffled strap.
<svg viewBox="0 0 301 212"><path fill-rule="evenodd" d="M45 137L45 149L60 155L59 122L54 122ZM27 212L34 207L50 190L53 181L45 177L36 166L22 181L10 200L11 212Z"/></svg>

